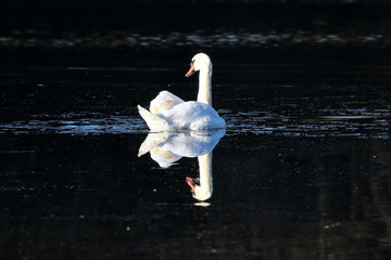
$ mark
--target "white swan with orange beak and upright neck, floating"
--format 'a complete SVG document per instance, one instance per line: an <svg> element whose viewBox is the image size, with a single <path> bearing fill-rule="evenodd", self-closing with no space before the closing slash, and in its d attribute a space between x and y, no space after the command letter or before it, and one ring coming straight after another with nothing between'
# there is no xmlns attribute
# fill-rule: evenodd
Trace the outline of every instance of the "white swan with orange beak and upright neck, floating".
<svg viewBox="0 0 391 260"><path fill-rule="evenodd" d="M185 102L168 91L162 91L151 101L149 110L138 105L140 116L151 131L211 130L226 127L225 120L212 107L212 62L205 53L191 58L185 75L199 75L197 101Z"/></svg>

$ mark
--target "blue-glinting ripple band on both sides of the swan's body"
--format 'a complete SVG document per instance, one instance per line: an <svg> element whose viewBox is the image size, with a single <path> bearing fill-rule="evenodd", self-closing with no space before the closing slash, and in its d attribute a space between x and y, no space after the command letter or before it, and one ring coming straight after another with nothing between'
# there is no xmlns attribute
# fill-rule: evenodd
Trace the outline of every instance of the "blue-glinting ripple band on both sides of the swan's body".
<svg viewBox="0 0 391 260"><path fill-rule="evenodd" d="M272 112L219 112L227 121L227 135L274 134L286 136L357 136L389 139L391 115L300 116ZM86 117L64 114L60 118L12 121L0 125L0 133L11 134L131 134L148 132L148 127L138 116Z"/></svg>

